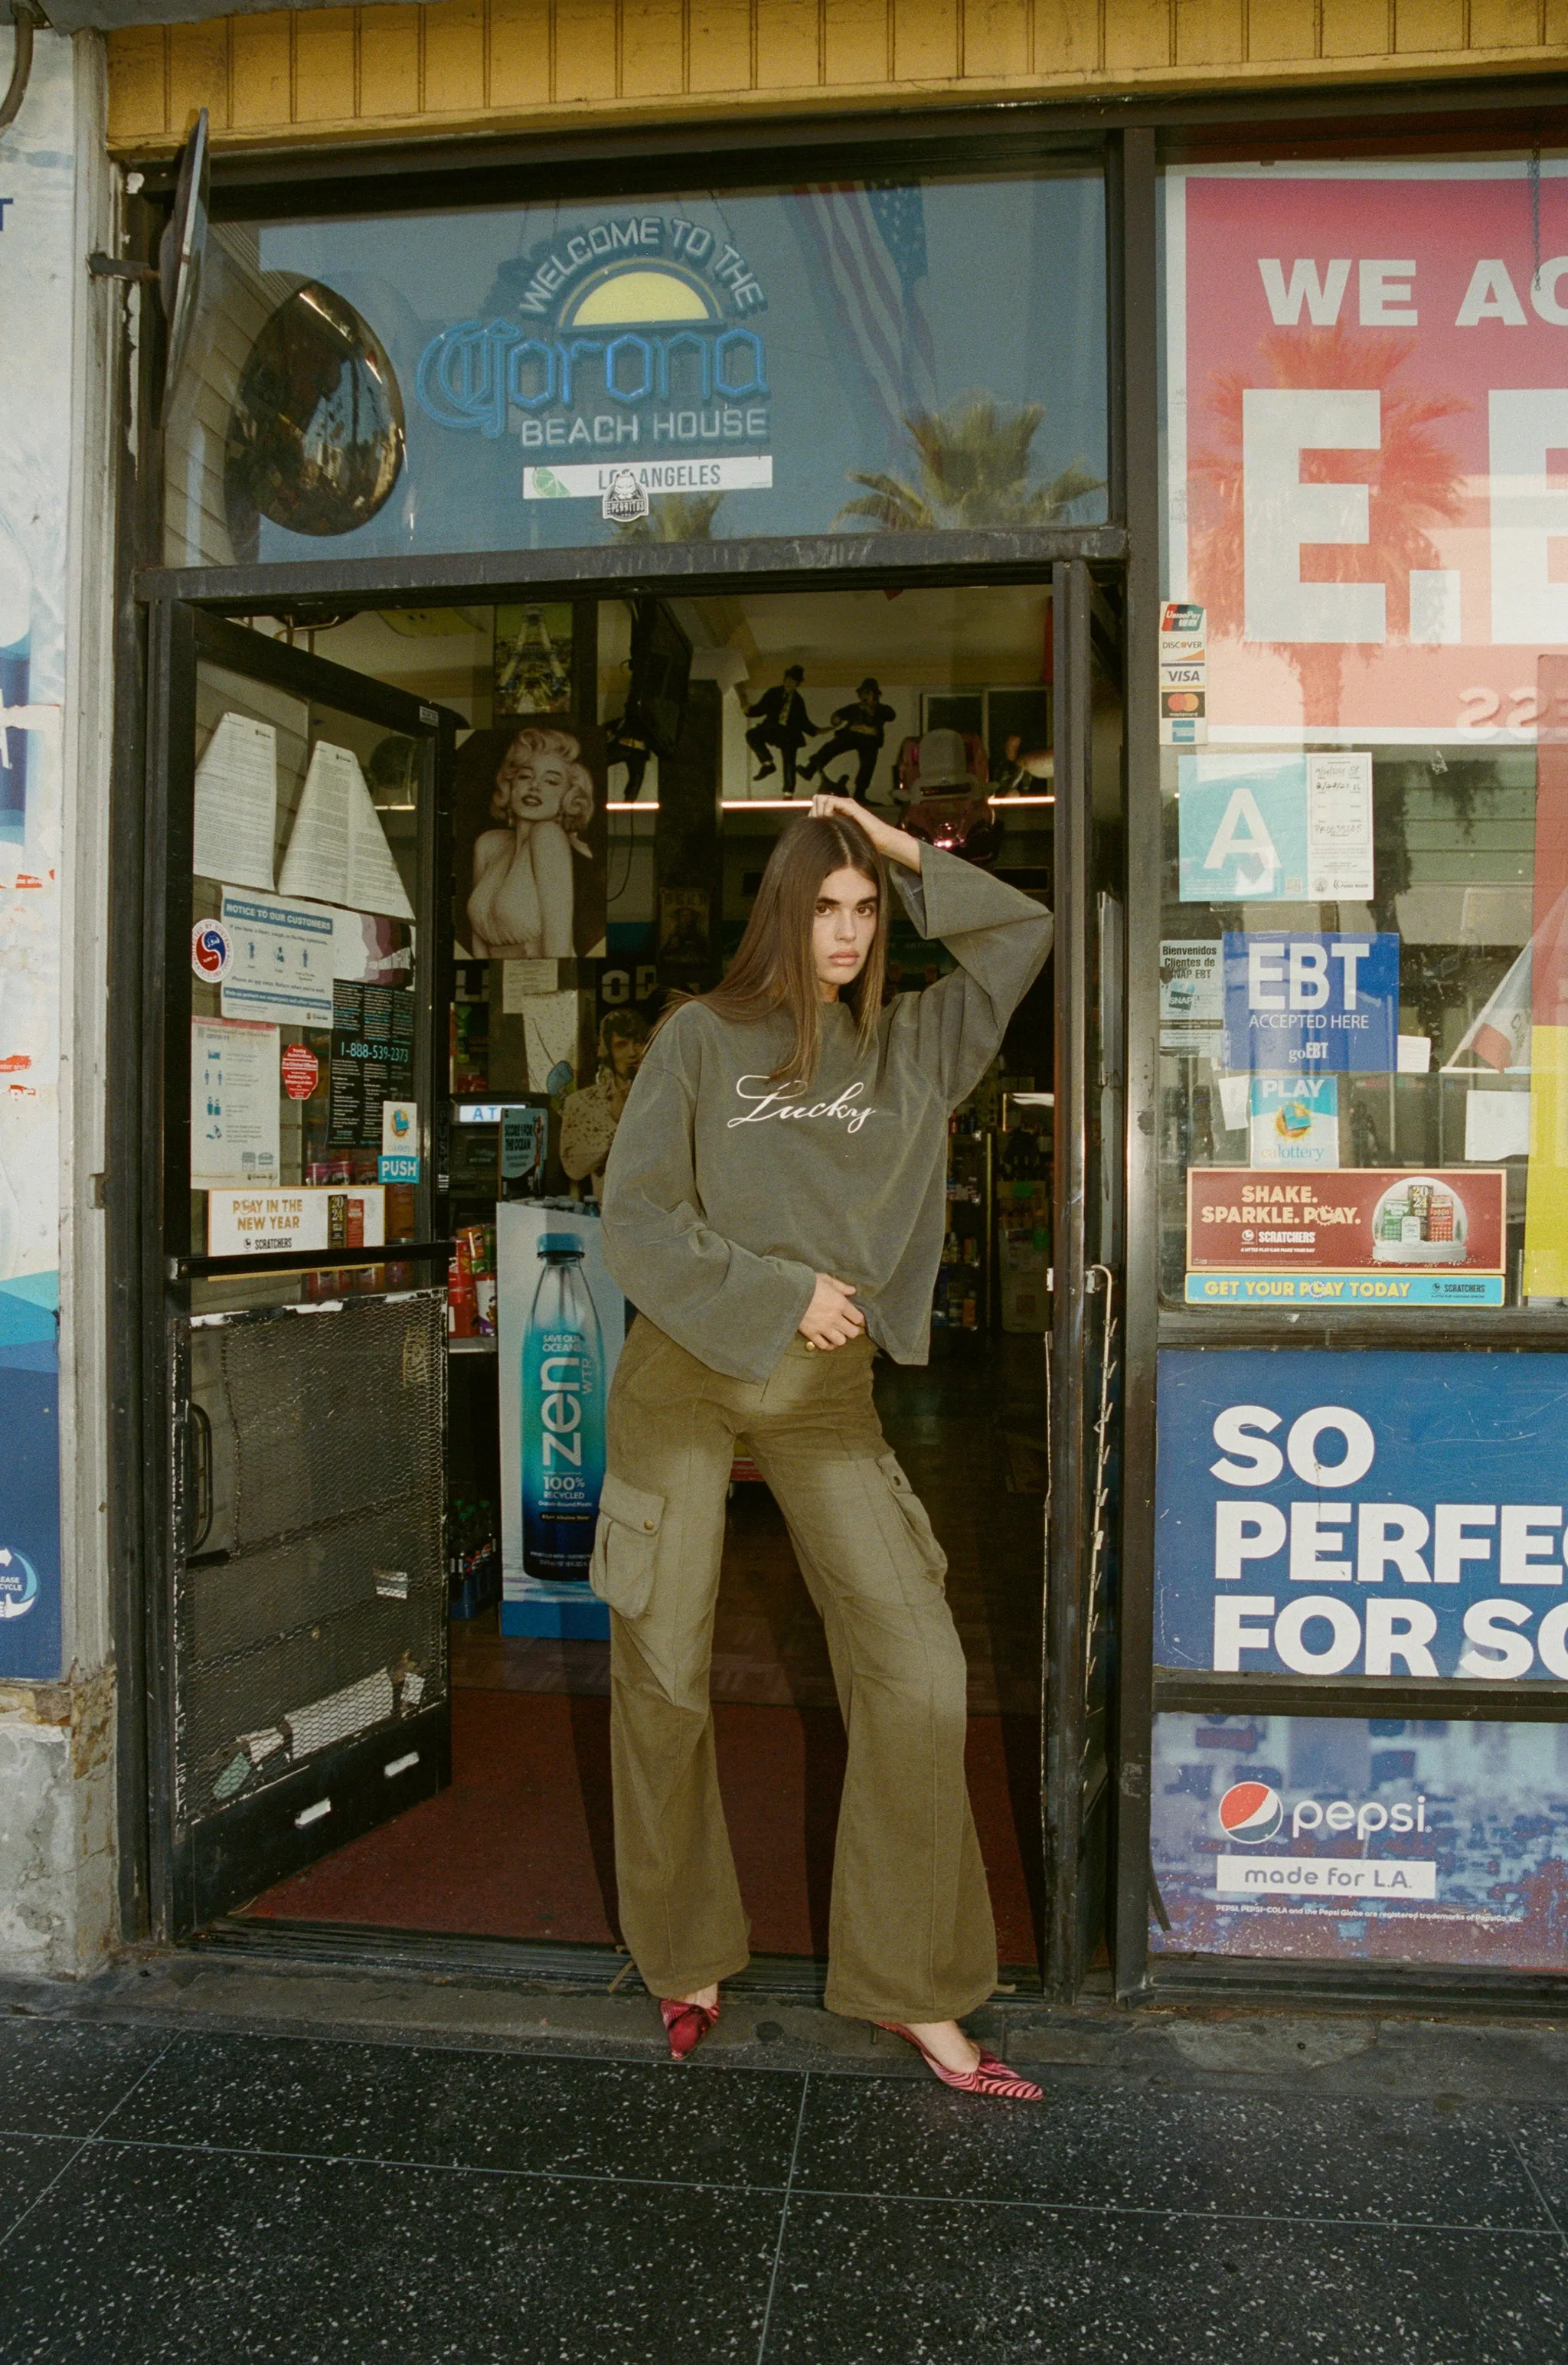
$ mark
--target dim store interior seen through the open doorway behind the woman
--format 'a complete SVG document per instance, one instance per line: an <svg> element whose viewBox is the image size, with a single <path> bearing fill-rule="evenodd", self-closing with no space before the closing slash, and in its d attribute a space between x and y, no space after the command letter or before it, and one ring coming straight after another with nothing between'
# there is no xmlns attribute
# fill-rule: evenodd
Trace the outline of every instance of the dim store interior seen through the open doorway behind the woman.
<svg viewBox="0 0 1568 2365"><path fill-rule="evenodd" d="M251 622L459 717L452 828L440 840L447 880L438 880L452 889L452 958L409 955L412 981L438 998L438 1043L442 1031L447 1041L435 1166L449 1175L459 1246L447 1291L452 1783L244 1911L617 1944L605 1613L579 1568L556 1568L549 1582L523 1575L537 1537L523 1533L516 1502L527 1440L508 1445L520 1317L506 1239L527 1223L591 1230L648 1034L672 993L717 981L773 840L814 788L861 788L885 818L906 818L1050 901L1050 594L743 591ZM232 681L213 681L199 724L210 733L237 695ZM255 702L253 688L246 695ZM932 731L963 736L967 788L922 788ZM433 840L421 837L409 743L362 724L352 736L331 714L307 719L305 740L317 736L355 745L416 903L419 847ZM532 788L518 790L530 766ZM525 811L558 811L561 825L551 835ZM899 908L892 991L948 965ZM948 1551L970 1660L974 1812L1000 1956L1019 1968L1038 1961L1041 1944L1050 979L1048 965L951 1121L932 1360L901 1369L882 1358L875 1376L887 1436ZM319 1045L324 1057L336 1041ZM395 1095L378 1074L359 1074L359 1090ZM312 1093L289 1116L303 1126L298 1178L369 1180L369 1135L345 1142L331 1130L336 1104L319 1107L317 1119ZM412 1237L412 1213L388 1190L385 1239L397 1237ZM412 1275L388 1263L307 1287L400 1279ZM286 1291L281 1275L274 1287ZM203 1303L239 1303L237 1284L206 1284ZM255 1284L244 1303L255 1303ZM823 1956L844 1736L783 1518L745 1459L731 1483L712 1698L752 1944Z"/></svg>

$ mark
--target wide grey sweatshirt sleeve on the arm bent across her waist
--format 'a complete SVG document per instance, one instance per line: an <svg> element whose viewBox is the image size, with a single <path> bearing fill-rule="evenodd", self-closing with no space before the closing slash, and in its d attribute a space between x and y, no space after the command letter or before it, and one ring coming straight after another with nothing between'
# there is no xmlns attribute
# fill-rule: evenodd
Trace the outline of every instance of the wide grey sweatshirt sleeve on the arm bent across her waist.
<svg viewBox="0 0 1568 2365"><path fill-rule="evenodd" d="M639 1313L712 1372L766 1379L811 1303L816 1272L721 1239L698 1201L700 1045L686 1015L653 1038L605 1168L603 1246Z"/></svg>

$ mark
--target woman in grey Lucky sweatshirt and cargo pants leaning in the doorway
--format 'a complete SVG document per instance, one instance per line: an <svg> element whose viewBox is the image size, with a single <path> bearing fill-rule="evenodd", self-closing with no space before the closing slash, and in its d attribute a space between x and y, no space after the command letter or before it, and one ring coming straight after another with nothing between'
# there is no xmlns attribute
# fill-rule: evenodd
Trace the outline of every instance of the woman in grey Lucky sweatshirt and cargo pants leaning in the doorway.
<svg viewBox="0 0 1568 2365"><path fill-rule="evenodd" d="M882 1007L887 870L958 967ZM958 2027L996 1987L965 1790L946 1559L870 1395L925 1362L946 1119L1050 951L1050 913L849 797L773 849L721 986L655 1034L605 1173L610 1272L641 1308L608 1407L594 1587L610 1603L622 1927L686 2058L747 1961L707 1700L738 1440L778 1497L849 1731L828 2008L948 2086L1041 2088Z"/></svg>

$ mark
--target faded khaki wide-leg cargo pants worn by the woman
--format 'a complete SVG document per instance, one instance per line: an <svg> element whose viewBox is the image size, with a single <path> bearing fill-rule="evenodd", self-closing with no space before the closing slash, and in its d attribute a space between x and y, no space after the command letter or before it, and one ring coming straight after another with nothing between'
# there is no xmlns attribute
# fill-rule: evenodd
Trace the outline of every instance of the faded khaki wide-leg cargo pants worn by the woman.
<svg viewBox="0 0 1568 2365"><path fill-rule="evenodd" d="M797 1336L766 1381L726 1379L646 1317L622 1348L591 1582L610 1603L620 1916L655 1996L747 1963L707 1698L738 1447L790 1525L849 1734L828 2008L955 2020L996 1987L946 1559L887 1450L870 1365L868 1339L823 1355Z"/></svg>

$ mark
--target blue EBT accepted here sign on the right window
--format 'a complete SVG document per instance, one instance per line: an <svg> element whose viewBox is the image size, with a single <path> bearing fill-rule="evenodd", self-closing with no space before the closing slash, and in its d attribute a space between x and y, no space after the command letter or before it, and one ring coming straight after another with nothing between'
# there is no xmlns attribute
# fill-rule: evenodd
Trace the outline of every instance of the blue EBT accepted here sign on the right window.
<svg viewBox="0 0 1568 2365"><path fill-rule="evenodd" d="M1400 1031L1400 939L1223 939L1227 1069L1391 1074Z"/></svg>

